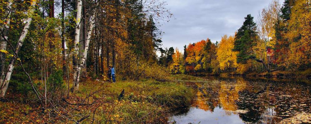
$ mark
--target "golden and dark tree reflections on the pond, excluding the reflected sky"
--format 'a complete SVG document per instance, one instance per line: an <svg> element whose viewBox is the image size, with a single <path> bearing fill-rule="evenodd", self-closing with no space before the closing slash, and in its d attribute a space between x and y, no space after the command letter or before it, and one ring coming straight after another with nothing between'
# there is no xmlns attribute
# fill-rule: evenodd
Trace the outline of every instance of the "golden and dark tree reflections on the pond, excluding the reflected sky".
<svg viewBox="0 0 311 124"><path fill-rule="evenodd" d="M229 77L196 85L192 106L210 112L223 108L227 116L239 114L244 122L274 124L299 112L311 113L311 85L293 80ZM248 112L237 113L237 109Z"/></svg>

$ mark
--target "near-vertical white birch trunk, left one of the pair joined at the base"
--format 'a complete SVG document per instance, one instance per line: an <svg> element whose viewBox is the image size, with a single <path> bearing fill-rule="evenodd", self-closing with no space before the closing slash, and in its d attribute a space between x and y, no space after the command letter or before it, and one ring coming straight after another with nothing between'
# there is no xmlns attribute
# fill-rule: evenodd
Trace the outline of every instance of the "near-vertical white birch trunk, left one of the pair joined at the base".
<svg viewBox="0 0 311 124"><path fill-rule="evenodd" d="M77 0L77 18L76 18L76 26L75 26L75 51L72 57L72 66L73 66L73 86L72 92L79 89L79 78L78 78L78 71L79 64L78 64L78 55L79 55L79 42L80 42L80 22L81 22L81 11L82 11L82 1Z"/></svg>

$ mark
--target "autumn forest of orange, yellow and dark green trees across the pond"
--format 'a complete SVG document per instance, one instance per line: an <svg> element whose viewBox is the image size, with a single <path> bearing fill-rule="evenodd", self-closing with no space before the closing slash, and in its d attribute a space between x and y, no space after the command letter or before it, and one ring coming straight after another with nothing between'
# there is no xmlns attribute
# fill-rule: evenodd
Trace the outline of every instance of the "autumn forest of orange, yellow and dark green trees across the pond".
<svg viewBox="0 0 311 124"><path fill-rule="evenodd" d="M273 0L257 16L246 15L241 28L221 41L207 38L185 45L184 53L176 49L169 69L195 75L310 76L310 1L281 5Z"/></svg>

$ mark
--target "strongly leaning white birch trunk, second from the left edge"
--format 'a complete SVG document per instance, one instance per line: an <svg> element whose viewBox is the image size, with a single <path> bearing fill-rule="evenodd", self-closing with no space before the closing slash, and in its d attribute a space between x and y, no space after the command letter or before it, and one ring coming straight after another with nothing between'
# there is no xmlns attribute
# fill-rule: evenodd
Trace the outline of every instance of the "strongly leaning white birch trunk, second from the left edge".
<svg viewBox="0 0 311 124"><path fill-rule="evenodd" d="M36 0L32 0L31 2L31 10L28 12L30 13L29 15L32 15L34 9L35 9L35 5L36 5ZM19 40L16 44L16 48L15 48L15 53L18 54L18 51L21 49L22 45L23 45L23 42L26 38L26 35L28 33L28 29L29 29L29 26L31 24L31 21L32 21L32 18L29 17L27 20L26 20L26 24L24 26L24 29L22 31L22 34L21 36L19 37ZM2 83L2 86L1 86L1 89L0 89L0 98L4 98L6 92L7 92L7 87L9 85L9 81L11 79L11 74L13 72L13 69L14 69L14 62L16 61L16 58L17 58L17 55L14 55L12 57L12 59L10 60L10 64L7 68L7 73L4 77L4 80L3 80L3 83Z"/></svg>

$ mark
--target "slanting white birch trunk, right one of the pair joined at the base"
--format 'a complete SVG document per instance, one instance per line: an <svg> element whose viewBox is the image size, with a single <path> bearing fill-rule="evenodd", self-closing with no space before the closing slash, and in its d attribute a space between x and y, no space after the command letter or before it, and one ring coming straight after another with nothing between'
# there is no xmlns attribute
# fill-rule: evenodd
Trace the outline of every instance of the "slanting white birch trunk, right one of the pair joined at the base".
<svg viewBox="0 0 311 124"><path fill-rule="evenodd" d="M85 42L85 48L84 48L84 51L83 51L83 55L82 55L82 58L81 58L81 62L80 62L80 65L77 69L77 71L74 73L74 75L76 75L76 82L77 82L77 86L79 86L79 81L80 81L80 70L81 70L81 67L83 67L84 63L85 63L85 60L86 60L86 57L87 57L87 51L89 50L89 43L90 43L90 38L91 38L91 33L92 33L92 30L94 28L94 15L91 16L91 20L90 20L90 29L87 31L87 40ZM77 87L78 89L79 87ZM75 89L75 88L73 88Z"/></svg>

